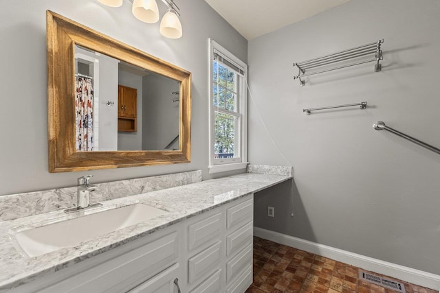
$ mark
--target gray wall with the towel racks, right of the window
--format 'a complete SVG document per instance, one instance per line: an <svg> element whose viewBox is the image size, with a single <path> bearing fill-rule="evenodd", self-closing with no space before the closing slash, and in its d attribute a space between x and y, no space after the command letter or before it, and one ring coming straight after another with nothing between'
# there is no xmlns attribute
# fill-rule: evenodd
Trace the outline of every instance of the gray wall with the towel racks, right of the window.
<svg viewBox="0 0 440 293"><path fill-rule="evenodd" d="M282 185L256 199L256 226L440 274L440 156L372 128L382 120L440 148L439 15L438 0L353 0L250 41L250 162L292 164L295 181L294 218L275 209L274 224L262 207L288 202ZM380 38L379 73L292 78L293 62Z"/></svg>

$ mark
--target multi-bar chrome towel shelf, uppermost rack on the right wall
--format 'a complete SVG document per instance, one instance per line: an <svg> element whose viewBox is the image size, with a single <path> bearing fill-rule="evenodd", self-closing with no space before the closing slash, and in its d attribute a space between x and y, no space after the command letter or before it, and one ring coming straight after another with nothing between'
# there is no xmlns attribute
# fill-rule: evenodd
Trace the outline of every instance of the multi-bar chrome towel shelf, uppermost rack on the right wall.
<svg viewBox="0 0 440 293"><path fill-rule="evenodd" d="M383 59L382 50L380 49L382 43L384 43L384 39L378 40L375 43L322 56L320 58L294 63L294 67L298 67L298 75L294 76L294 80L298 79L301 86L304 86L305 81L302 78L305 78L306 76L361 65L368 62L376 62L375 71L380 71L382 69L380 60ZM347 64L349 60L353 60L353 63ZM309 72L310 69L313 70Z"/></svg>

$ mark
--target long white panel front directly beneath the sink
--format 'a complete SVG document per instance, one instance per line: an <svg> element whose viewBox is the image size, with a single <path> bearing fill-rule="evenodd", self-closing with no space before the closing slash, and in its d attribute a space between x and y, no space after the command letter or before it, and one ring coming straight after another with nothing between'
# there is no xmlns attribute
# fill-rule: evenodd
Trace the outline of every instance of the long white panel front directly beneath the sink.
<svg viewBox="0 0 440 293"><path fill-rule="evenodd" d="M43 292L126 292L175 262L179 254L178 239L177 232L170 233L45 288Z"/></svg>

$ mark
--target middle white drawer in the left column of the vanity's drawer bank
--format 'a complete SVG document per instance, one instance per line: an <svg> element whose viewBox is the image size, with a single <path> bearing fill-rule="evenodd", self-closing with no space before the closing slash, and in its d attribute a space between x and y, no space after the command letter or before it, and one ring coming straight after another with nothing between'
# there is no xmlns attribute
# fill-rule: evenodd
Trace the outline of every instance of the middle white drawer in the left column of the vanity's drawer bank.
<svg viewBox="0 0 440 293"><path fill-rule="evenodd" d="M218 266L221 259L221 242L217 242L214 245L201 251L194 257L188 259L188 281L193 283L197 279L203 276L214 268Z"/></svg>

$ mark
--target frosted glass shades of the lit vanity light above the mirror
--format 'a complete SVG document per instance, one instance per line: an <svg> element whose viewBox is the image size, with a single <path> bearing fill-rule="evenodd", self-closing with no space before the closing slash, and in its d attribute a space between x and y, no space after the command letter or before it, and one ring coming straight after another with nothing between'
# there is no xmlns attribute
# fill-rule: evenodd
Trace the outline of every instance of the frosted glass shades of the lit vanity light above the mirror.
<svg viewBox="0 0 440 293"><path fill-rule="evenodd" d="M120 7L123 0L98 0L110 7ZM159 21L159 9L156 0L130 0L133 3L131 12L144 23L157 23ZM179 8L174 0L162 0L168 6L168 10L162 17L159 32L166 38L180 38L182 36L181 23L179 20Z"/></svg>

